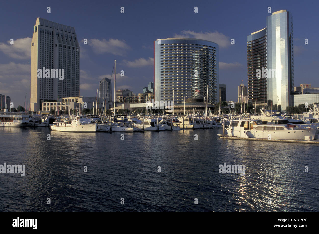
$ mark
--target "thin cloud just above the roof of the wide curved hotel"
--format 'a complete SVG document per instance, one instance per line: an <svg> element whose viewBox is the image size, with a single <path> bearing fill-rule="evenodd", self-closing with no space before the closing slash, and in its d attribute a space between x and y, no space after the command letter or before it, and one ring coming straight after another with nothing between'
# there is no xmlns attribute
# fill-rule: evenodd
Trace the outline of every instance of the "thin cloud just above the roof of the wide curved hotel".
<svg viewBox="0 0 319 234"><path fill-rule="evenodd" d="M230 46L230 38L224 35L223 33L215 32L199 32L196 33L194 31L182 31L182 34L178 35L175 33L174 37L189 37L189 38L197 38L202 40L209 40L215 42L219 45L220 48L226 48Z"/></svg>

